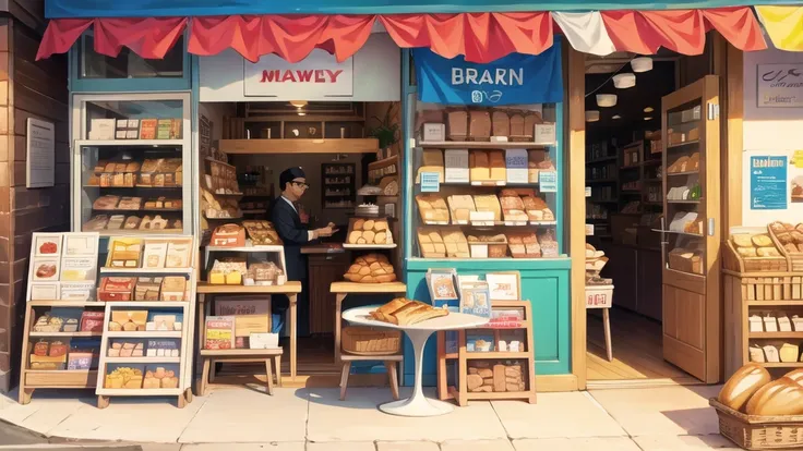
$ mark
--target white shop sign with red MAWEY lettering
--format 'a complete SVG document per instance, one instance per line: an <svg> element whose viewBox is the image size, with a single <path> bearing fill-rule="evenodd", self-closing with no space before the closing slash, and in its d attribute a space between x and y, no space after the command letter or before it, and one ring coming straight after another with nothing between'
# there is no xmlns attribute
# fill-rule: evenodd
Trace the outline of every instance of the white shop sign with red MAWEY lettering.
<svg viewBox="0 0 803 451"><path fill-rule="evenodd" d="M334 56L313 50L309 57L290 63L266 54L256 63L243 60L245 96L307 99L323 96L353 96L353 59L337 62Z"/></svg>

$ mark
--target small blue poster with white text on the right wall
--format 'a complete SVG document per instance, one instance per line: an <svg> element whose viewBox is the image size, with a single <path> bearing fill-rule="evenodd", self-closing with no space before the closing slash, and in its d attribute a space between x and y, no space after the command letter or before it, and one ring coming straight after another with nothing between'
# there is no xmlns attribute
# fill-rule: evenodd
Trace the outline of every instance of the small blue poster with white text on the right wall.
<svg viewBox="0 0 803 451"><path fill-rule="evenodd" d="M787 208L787 157L750 157L750 207Z"/></svg>

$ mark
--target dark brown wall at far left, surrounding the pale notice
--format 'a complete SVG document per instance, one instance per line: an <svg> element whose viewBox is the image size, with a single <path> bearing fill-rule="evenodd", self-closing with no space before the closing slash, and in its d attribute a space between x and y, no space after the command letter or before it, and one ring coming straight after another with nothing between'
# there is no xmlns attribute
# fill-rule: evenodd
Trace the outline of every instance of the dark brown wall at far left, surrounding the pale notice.
<svg viewBox="0 0 803 451"><path fill-rule="evenodd" d="M24 13L0 17L0 391L19 377L31 234L70 230L68 60L35 61L40 11ZM56 123L53 187L25 187L28 118Z"/></svg>

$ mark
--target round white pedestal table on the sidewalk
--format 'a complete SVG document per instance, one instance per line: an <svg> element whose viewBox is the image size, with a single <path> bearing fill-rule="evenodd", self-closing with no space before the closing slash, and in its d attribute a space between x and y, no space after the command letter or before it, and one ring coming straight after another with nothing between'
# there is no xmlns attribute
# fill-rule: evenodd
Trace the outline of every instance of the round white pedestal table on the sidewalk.
<svg viewBox="0 0 803 451"><path fill-rule="evenodd" d="M444 415L454 410L450 403L427 399L421 387L421 371L423 363L423 346L432 332L456 329L469 329L482 326L488 318L475 315L450 312L440 318L428 319L410 326L397 326L389 322L377 321L371 318L370 313L377 306L350 308L343 313L343 319L359 326L397 329L407 333L412 342L412 351L416 355L416 383L412 395L406 400L388 402L380 405L380 411L399 416L436 416Z"/></svg>

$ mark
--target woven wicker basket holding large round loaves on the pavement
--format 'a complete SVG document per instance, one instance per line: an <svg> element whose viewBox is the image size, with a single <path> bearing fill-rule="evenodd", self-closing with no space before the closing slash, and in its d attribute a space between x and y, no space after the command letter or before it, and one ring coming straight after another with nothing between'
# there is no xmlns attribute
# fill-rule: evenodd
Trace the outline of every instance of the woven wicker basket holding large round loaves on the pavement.
<svg viewBox="0 0 803 451"><path fill-rule="evenodd" d="M719 416L719 434L745 450L803 449L803 415L745 415L709 400Z"/></svg>

